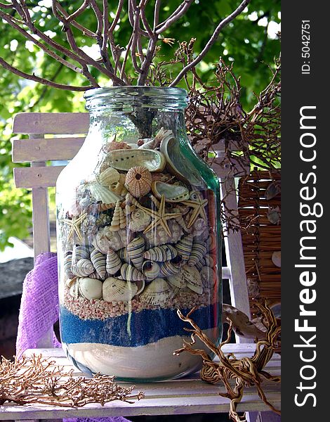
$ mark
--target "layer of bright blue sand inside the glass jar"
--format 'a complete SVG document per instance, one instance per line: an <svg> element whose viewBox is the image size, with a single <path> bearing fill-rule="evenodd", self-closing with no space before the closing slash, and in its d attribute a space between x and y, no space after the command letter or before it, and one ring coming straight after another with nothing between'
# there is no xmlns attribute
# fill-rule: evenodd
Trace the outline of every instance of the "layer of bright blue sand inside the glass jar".
<svg viewBox="0 0 330 422"><path fill-rule="evenodd" d="M183 309L183 314L188 310ZM219 325L218 305L201 307L192 314L192 319L199 328L205 330ZM63 343L101 343L136 347L154 343L161 338L173 335L189 335L183 328L191 328L180 320L176 310L144 309L132 312L131 321L128 314L99 319L80 319L65 307L60 309L60 327Z"/></svg>

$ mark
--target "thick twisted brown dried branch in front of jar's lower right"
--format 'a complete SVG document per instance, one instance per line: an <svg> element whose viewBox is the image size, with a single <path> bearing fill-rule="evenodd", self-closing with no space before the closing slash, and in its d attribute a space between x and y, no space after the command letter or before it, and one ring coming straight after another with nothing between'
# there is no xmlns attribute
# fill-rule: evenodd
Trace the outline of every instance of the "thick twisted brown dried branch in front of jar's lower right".
<svg viewBox="0 0 330 422"><path fill-rule="evenodd" d="M232 353L226 356L223 350L221 350L222 347L230 341L232 321L230 321L228 328L227 340L224 340L220 345L216 346L190 317L192 312L194 312L194 308L186 316L178 310L180 319L188 322L192 326L192 328L185 328L186 331L191 333L192 341L191 343L185 342L183 347L173 352L173 354L189 352L191 354L199 354L202 357L203 367L200 374L201 378L203 381L206 381L206 383L213 384L220 381L223 382L226 392L219 392L219 395L230 399L229 416L234 422L246 422L245 414L243 416L237 414L237 404L242 400L244 388L252 387L253 385L256 386L258 395L263 402L277 414L280 414L280 412L268 402L261 383L263 378L275 382L281 381L279 376L272 376L270 373L264 371L266 364L268 364L274 353L277 337L281 328L277 326L275 316L265 302L260 302L256 304L256 306L263 315L263 324L267 327L267 332L265 333L265 339L259 340L256 343L256 352L253 356L251 358L243 357L242 359L237 359ZM210 355L204 350L194 349L194 347L192 347L196 337L209 348L211 353L215 354L220 359L220 362L213 362ZM230 385L230 380L235 380L234 387Z"/></svg>

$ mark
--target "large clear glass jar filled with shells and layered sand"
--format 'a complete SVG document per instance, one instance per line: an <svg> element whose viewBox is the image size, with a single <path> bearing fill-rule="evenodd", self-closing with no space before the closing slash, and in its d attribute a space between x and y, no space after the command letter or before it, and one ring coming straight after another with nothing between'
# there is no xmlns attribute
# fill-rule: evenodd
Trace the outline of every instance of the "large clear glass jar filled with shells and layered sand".
<svg viewBox="0 0 330 422"><path fill-rule="evenodd" d="M62 345L85 372L184 376L202 359L173 355L190 340L177 309L220 340L218 178L190 146L184 89L85 98L89 132L56 185Z"/></svg>

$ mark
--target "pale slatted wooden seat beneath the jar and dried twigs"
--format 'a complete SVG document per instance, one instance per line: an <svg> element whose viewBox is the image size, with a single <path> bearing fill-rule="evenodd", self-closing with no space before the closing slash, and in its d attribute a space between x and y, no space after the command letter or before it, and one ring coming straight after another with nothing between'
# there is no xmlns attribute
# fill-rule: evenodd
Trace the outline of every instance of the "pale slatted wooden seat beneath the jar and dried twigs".
<svg viewBox="0 0 330 422"><path fill-rule="evenodd" d="M251 356L255 350L253 344L229 344L223 347L227 352L234 352L239 358ZM65 366L65 370L72 369L62 349L34 349L27 350L26 354L43 354L51 357L56 364ZM266 366L266 370L273 375L280 374L280 357L275 354ZM74 369L74 375L81 376L81 373ZM124 383L123 383L124 384ZM129 384L131 385L131 384ZM211 385L199 379L199 374L180 378L180 380L162 381L158 383L135 383L136 390L143 390L145 398L128 404L120 401L110 402L104 407L98 404L87 404L78 409L62 408L53 406L31 405L20 407L13 404L0 406L0 420L29 420L47 421L60 418L90 417L100 418L106 416L141 416L141 415L178 415L194 413L227 413L229 411L229 400L218 395L218 392L225 392L222 385ZM266 397L277 408L280 409L280 384L271 381L263 383ZM258 397L256 388L246 388L242 403L237 410L249 412L265 412L270 409ZM275 415L275 414L274 414ZM263 419L264 420L264 419ZM270 420L270 419L266 419Z"/></svg>

